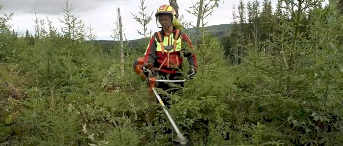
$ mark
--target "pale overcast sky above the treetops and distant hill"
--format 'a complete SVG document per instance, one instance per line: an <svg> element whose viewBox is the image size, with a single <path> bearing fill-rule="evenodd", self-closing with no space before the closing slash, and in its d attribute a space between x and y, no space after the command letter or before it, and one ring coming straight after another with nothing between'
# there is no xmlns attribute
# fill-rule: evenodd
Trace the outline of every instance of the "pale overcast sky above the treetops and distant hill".
<svg viewBox="0 0 343 146"><path fill-rule="evenodd" d="M192 21L196 24L196 17L186 12L198 0L177 0L179 6L179 15L184 15L187 21ZM247 2L248 0L244 0ZM262 4L262 0L259 0ZM275 3L277 0L271 0ZM218 25L230 23L232 21L232 7L238 5L239 0L224 0L218 8L213 11L212 16L208 16L205 20L208 25ZM120 7L123 20L123 29L127 40L139 39L137 29L141 30L142 26L133 19L133 14L138 14L140 11L140 0L68 0L69 5L72 5L73 14L80 16L80 19L86 22L89 26L91 21L94 31L98 35L97 40L112 40L111 30L114 28L114 22L117 19L117 9ZM147 6L146 12L153 12L153 19L148 24L148 29L155 32L160 30L157 28L154 13L160 5L169 4L169 0L145 0ZM63 18L63 8L66 5L66 0L1 0L1 13L14 12L14 16L10 23L15 31L25 33L26 29L30 33L34 33L35 18L34 8L36 8L38 19L46 19L52 21L53 26L60 28L58 18Z"/></svg>

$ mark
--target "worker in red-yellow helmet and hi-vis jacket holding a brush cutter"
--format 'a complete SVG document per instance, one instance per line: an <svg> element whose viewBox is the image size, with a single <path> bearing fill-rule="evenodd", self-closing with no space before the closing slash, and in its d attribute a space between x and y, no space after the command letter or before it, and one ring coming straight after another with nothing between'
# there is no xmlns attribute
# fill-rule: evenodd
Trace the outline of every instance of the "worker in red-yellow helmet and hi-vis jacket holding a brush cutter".
<svg viewBox="0 0 343 146"><path fill-rule="evenodd" d="M157 27L161 31L154 33L151 37L144 56L143 71L145 75L152 68L157 70L159 77L165 80L179 80L182 78L182 57L188 59L188 77L192 79L197 72L196 54L194 47L187 34L183 32L180 21L176 19L176 12L170 5L162 5L155 14ZM176 83L175 83L176 84ZM183 87L183 83L179 83ZM158 88L174 93L177 89L172 89L170 83L157 84ZM167 105L170 98L162 96L162 101Z"/></svg>

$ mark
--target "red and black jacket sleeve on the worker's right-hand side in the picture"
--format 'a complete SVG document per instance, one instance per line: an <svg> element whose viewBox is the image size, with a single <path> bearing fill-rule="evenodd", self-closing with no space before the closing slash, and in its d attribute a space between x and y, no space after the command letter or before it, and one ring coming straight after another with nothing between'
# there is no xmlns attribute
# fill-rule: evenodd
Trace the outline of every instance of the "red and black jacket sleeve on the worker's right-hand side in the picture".
<svg viewBox="0 0 343 146"><path fill-rule="evenodd" d="M191 40L188 38L186 33L182 32L181 37L182 37L182 43L186 44L186 45L183 45L184 56L187 57L190 67L193 66L195 67L194 69L197 69L196 52L194 50L193 44ZM185 46L188 46L188 47L185 47ZM189 49L186 49L186 48L189 48Z"/></svg>

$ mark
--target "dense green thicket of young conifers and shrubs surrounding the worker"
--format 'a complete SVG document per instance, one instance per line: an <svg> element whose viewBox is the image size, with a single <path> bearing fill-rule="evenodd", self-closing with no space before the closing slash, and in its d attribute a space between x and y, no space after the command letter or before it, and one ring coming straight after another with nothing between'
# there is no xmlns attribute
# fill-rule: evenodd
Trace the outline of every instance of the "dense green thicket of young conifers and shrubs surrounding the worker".
<svg viewBox="0 0 343 146"><path fill-rule="evenodd" d="M342 146L342 2L241 0L230 35L202 34L196 77L168 94L181 132L194 146ZM170 146L172 125L132 69L147 42L124 44L122 72L118 45L86 41L81 23L20 36L10 17L0 16L1 145Z"/></svg>

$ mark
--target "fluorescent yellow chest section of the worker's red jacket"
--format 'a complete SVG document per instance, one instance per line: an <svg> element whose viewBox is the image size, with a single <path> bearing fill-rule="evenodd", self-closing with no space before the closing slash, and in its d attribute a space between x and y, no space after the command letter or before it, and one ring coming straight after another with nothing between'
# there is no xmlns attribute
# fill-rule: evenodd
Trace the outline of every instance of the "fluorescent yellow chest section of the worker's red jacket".
<svg viewBox="0 0 343 146"><path fill-rule="evenodd" d="M174 35L174 33L171 33L171 35L169 36L169 39L168 39L168 36L163 38L163 46L164 46L163 51L164 52L168 52L168 50L169 50L169 53L174 52L174 50L171 49L173 44L174 44L173 35ZM156 51L160 51L161 52L162 51L162 47L161 47L161 43L160 43L158 37L156 37L155 40L156 40ZM181 42L182 42L182 38L179 37L176 40L175 52L181 51ZM171 46L171 48L169 46Z"/></svg>

